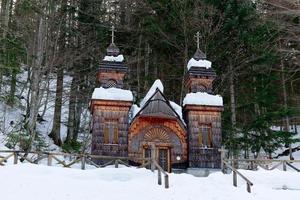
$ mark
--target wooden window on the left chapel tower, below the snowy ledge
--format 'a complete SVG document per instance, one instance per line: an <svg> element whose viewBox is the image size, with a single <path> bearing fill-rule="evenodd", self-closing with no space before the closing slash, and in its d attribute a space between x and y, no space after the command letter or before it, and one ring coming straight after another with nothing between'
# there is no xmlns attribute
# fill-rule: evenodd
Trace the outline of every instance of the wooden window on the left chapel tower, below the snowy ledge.
<svg viewBox="0 0 300 200"><path fill-rule="evenodd" d="M118 123L114 121L106 122L104 125L104 144L118 144L119 130Z"/></svg>

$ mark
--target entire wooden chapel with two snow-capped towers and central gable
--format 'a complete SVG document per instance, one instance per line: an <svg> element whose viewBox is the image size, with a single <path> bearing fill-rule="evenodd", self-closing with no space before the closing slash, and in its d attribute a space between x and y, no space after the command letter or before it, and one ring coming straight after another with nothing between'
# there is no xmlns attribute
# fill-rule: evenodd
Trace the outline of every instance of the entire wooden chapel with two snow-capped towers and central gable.
<svg viewBox="0 0 300 200"><path fill-rule="evenodd" d="M160 80L136 105L132 91L123 88L127 67L112 37L90 104L93 155L129 157L142 164L155 154L167 171L220 168L223 100L212 94L216 73L199 48L199 35L197 43L187 65L183 105L167 99Z"/></svg>

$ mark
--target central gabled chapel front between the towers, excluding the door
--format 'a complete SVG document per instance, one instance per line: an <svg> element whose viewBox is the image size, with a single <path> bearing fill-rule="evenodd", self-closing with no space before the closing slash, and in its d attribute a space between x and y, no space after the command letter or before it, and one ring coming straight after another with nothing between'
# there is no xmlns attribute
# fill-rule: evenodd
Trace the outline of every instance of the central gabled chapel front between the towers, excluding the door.
<svg viewBox="0 0 300 200"><path fill-rule="evenodd" d="M172 164L187 161L186 127L164 94L156 89L129 127L128 154L142 158L150 146L166 149ZM180 159L178 159L180 158ZM138 159L135 160L138 162Z"/></svg>

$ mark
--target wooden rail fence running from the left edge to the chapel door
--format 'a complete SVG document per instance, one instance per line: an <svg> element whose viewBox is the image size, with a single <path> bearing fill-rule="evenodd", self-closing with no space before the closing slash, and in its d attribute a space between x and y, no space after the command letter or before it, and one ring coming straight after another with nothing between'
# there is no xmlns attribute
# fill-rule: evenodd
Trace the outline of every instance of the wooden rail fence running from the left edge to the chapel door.
<svg viewBox="0 0 300 200"><path fill-rule="evenodd" d="M6 155L1 155L6 154ZM26 156L25 156L26 155ZM69 157L70 162L66 162L66 159L61 159L60 156ZM70 154L70 153L56 153L56 152L39 152L39 151L18 151L18 150L0 150L0 166L5 165L9 159L13 158L13 163L18 164L19 161L27 161L32 164L39 164L41 161L47 159L47 165L52 166L52 161L55 160L57 164L62 167L70 168L76 163L81 163L81 169L86 169L86 163L93 165L96 168L106 167L108 165L114 165L115 168L119 167L119 164L129 167L130 165L126 162L129 161L129 157L113 157L113 156L100 156L91 154ZM98 165L94 160L102 159L109 160L103 165ZM141 160L144 164L139 166L139 168L150 166L151 171L157 169L158 184L162 185L162 176L164 175L165 188L169 188L169 175L162 169L162 167L157 163L154 157L136 159Z"/></svg>

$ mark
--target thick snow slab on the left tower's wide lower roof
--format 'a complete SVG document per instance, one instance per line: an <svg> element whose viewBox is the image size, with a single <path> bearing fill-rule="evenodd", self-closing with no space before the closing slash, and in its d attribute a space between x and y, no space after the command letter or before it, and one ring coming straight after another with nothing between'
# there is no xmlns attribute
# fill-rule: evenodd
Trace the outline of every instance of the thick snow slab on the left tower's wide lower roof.
<svg viewBox="0 0 300 200"><path fill-rule="evenodd" d="M94 89L92 99L133 101L133 95L130 90L100 87Z"/></svg>

